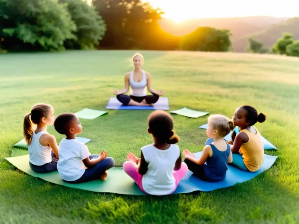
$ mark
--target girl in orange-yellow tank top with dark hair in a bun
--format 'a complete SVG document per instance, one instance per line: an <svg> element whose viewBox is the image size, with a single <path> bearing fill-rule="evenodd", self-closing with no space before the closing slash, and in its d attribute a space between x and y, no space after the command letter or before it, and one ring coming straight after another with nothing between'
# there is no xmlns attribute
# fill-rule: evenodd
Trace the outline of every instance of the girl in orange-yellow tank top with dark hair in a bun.
<svg viewBox="0 0 299 224"><path fill-rule="evenodd" d="M264 162L263 138L255 125L264 122L266 115L257 113L251 106L244 105L237 108L234 116L234 125L239 127L240 132L234 140L228 142L233 153L233 165L244 171L257 171Z"/></svg>

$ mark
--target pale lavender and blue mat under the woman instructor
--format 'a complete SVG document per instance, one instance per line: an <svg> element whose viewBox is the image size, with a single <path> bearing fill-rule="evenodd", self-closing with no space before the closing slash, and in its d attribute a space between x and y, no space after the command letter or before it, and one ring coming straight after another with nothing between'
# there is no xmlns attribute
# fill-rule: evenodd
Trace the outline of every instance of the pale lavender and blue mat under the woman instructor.
<svg viewBox="0 0 299 224"><path fill-rule="evenodd" d="M167 97L160 97L154 106L124 106L116 97L110 97L106 109L110 110L169 110Z"/></svg>

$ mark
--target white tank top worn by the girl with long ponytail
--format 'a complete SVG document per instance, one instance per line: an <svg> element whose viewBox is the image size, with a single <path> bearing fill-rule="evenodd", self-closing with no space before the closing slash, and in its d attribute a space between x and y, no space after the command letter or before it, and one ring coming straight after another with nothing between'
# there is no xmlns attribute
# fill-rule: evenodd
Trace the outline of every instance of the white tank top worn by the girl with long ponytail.
<svg viewBox="0 0 299 224"><path fill-rule="evenodd" d="M42 146L39 143L39 138L43 134L48 134L48 132L40 131L37 134L33 132L32 141L28 145L29 162L36 166L52 162L52 148L50 146Z"/></svg>

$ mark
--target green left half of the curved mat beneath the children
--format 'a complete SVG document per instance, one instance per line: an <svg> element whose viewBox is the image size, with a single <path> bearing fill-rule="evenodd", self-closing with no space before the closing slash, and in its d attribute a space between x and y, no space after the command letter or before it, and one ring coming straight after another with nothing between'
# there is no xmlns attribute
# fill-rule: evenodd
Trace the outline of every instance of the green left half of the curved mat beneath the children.
<svg viewBox="0 0 299 224"><path fill-rule="evenodd" d="M81 184L65 183L60 178L57 171L51 173L36 173L31 170L29 166L29 155L8 157L5 158L8 162L14 165L19 170L29 174L33 177L38 177L45 181L63 185L70 188L82 189L85 191L94 192L109 192L116 194L131 194L131 195L145 195L140 188L135 184L131 177L126 175L121 167L114 167L108 170L108 177L105 181L94 180ZM117 183L116 183L117 182Z"/></svg>

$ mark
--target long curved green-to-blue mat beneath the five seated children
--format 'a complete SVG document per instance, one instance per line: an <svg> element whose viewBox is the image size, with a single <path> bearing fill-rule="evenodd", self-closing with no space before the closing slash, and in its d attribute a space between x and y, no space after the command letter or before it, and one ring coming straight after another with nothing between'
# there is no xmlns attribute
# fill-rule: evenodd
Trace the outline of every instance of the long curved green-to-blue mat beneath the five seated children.
<svg viewBox="0 0 299 224"><path fill-rule="evenodd" d="M201 154L202 152L199 152L196 153L195 156L199 158ZM268 170L274 164L277 158L276 156L269 156L266 154L264 156L264 164L257 172L241 171L233 166L228 166L226 179L217 183L202 181L194 177L191 171L188 171L185 177L179 182L179 185L173 194L185 194L193 191L213 191L215 189L231 187L237 183L248 181L258 174ZM137 184L135 184L133 179L131 179L131 177L129 177L121 167L109 169L106 181L94 180L82 184L70 184L63 182L57 171L46 174L32 171L28 162L29 155L8 157L5 159L26 174L29 174L33 177L39 177L40 179L54 184L94 192L145 195L137 186Z"/></svg>

